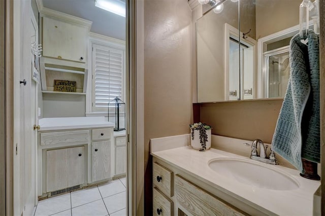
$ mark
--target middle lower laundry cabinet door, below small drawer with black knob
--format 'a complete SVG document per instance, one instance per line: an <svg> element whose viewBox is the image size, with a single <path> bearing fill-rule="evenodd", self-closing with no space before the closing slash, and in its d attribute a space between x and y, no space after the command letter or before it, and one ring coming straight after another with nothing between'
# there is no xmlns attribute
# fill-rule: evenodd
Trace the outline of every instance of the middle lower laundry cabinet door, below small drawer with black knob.
<svg viewBox="0 0 325 216"><path fill-rule="evenodd" d="M92 142L91 156L92 182L111 177L111 142Z"/></svg>

